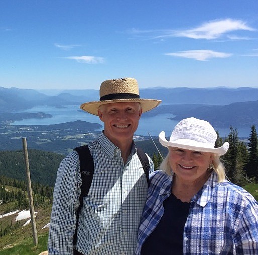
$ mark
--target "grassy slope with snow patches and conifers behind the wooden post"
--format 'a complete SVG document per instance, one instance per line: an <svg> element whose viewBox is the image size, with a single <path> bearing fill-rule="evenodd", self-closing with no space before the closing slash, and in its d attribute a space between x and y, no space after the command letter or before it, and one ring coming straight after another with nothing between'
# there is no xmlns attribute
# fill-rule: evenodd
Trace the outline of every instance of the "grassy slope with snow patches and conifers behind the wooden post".
<svg viewBox="0 0 258 255"><path fill-rule="evenodd" d="M48 232L47 224L50 221L53 187L32 182L32 193L37 234L40 237ZM0 175L0 250L16 246L18 243L26 243L32 239L32 227L31 224L27 224L30 217L17 219L20 213L23 214L27 210L29 210L27 183ZM43 250L46 250L46 245L44 247ZM20 250L10 253L8 250L3 254L28 253L20 252Z"/></svg>

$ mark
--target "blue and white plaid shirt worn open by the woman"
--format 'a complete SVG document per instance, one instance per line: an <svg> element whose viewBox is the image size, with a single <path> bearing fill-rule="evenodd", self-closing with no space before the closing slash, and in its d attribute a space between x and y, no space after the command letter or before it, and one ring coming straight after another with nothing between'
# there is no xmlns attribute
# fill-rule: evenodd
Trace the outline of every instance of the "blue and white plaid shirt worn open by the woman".
<svg viewBox="0 0 258 255"><path fill-rule="evenodd" d="M163 201L171 194L172 176L152 175L138 233L136 254L159 223ZM171 219L176 220L176 219ZM184 254L258 254L258 203L244 189L217 183L214 172L191 199L184 227Z"/></svg>

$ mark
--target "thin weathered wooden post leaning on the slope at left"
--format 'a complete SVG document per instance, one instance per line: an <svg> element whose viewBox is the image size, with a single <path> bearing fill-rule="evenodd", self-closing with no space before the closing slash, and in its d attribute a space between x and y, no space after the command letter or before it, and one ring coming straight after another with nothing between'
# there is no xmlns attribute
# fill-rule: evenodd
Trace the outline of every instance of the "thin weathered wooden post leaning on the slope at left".
<svg viewBox="0 0 258 255"><path fill-rule="evenodd" d="M26 138L23 138L23 152L24 152L25 167L26 167L26 174L27 174L27 187L28 187L27 191L28 191L29 205L30 205L30 212L31 212L33 240L34 240L35 246L38 246L38 235L37 235L36 221L35 221L35 215L34 215L34 205L33 205L32 189L31 189L31 177L30 177L30 166L29 166Z"/></svg>

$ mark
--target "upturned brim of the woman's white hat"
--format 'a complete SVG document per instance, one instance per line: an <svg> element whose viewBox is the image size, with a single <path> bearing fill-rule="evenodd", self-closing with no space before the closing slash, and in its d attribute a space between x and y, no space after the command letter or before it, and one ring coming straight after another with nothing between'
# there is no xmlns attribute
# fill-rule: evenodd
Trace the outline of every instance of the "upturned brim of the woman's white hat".
<svg viewBox="0 0 258 255"><path fill-rule="evenodd" d="M188 149L188 150L211 152L211 153L217 154L218 156L224 155L229 148L228 142L225 142L222 146L220 146L218 148L208 148L208 147L200 146L200 145L194 146L194 145L184 144L183 139L178 142L169 142L165 137L164 131L160 132L159 141L165 147L177 147L177 148Z"/></svg>

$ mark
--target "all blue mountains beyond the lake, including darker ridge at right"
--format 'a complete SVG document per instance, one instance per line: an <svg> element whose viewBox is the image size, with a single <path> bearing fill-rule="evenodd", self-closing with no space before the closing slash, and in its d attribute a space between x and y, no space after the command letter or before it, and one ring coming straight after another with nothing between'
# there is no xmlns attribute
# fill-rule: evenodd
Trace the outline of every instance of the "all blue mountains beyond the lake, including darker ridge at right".
<svg viewBox="0 0 258 255"><path fill-rule="evenodd" d="M98 90L36 91L0 87L0 121L29 118L30 115L15 114L35 106L63 107L96 101ZM140 90L141 98L160 99L159 107L144 114L151 117L170 113L171 119L196 117L214 126L249 127L258 125L258 88L150 88ZM43 116L44 113L38 114Z"/></svg>

